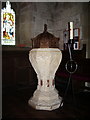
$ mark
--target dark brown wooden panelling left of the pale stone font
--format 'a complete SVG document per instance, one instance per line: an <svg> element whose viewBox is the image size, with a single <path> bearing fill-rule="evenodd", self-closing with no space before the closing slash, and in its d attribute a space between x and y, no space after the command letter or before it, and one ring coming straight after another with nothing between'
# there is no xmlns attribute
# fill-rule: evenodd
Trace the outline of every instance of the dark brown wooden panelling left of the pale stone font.
<svg viewBox="0 0 90 120"><path fill-rule="evenodd" d="M3 87L37 83L28 50L2 52L2 83Z"/></svg>

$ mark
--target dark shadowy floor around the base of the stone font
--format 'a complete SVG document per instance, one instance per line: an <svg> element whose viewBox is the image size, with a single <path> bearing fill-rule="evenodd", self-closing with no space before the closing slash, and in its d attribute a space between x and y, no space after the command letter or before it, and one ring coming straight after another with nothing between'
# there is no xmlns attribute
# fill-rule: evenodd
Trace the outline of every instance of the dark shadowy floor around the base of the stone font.
<svg viewBox="0 0 90 120"><path fill-rule="evenodd" d="M90 119L90 93L81 92L72 99L68 93L64 105L52 111L35 110L28 105L29 98L36 88L4 89L2 92L2 118L44 119L44 120L87 120ZM59 91L60 92L60 91ZM62 94L63 95L63 94Z"/></svg>

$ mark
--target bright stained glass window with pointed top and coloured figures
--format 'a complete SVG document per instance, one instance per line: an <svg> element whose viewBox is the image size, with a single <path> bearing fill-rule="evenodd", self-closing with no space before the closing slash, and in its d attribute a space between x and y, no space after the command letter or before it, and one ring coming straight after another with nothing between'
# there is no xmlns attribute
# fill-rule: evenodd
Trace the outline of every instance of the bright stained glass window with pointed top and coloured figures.
<svg viewBox="0 0 90 120"><path fill-rule="evenodd" d="M15 45L15 12L9 1L1 10L1 44Z"/></svg>

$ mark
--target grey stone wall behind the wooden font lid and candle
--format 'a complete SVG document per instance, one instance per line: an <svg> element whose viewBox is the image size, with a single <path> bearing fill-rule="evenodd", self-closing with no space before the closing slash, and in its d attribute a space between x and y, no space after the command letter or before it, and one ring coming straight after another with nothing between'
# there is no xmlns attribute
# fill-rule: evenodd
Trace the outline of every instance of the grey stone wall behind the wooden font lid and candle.
<svg viewBox="0 0 90 120"><path fill-rule="evenodd" d="M60 49L63 49L63 31L70 21L74 28L80 28L80 48L88 42L88 4L74 2L28 3L20 7L20 43L31 45L31 38L43 32L43 25L48 31L60 37Z"/></svg>

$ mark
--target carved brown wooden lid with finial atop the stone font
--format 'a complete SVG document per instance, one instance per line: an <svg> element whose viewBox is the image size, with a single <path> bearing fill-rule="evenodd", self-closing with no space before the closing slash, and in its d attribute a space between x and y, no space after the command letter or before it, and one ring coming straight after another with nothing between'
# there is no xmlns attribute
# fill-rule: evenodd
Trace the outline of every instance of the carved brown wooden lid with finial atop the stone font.
<svg viewBox="0 0 90 120"><path fill-rule="evenodd" d="M47 25L44 24L43 33L32 38L32 48L58 48L59 38L47 31Z"/></svg>

